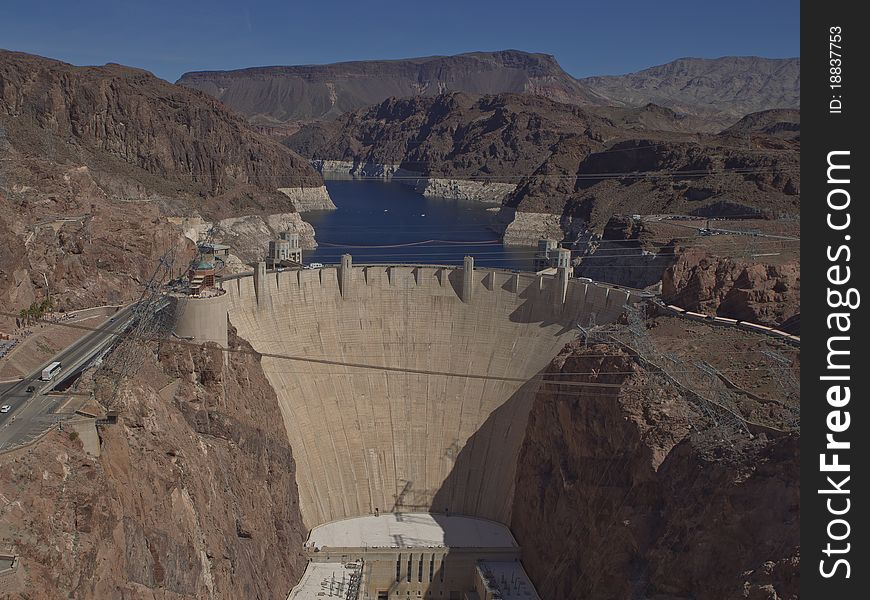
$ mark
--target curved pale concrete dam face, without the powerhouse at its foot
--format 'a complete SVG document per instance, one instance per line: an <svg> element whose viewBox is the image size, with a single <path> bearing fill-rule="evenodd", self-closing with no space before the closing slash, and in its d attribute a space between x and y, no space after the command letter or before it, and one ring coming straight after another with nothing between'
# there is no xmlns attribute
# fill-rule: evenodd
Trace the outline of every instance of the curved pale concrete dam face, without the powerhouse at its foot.
<svg viewBox="0 0 870 600"><path fill-rule="evenodd" d="M577 323L611 321L631 300L565 277L431 266L261 268L224 287L230 323L264 354L309 528L375 512L509 523L535 376Z"/></svg>

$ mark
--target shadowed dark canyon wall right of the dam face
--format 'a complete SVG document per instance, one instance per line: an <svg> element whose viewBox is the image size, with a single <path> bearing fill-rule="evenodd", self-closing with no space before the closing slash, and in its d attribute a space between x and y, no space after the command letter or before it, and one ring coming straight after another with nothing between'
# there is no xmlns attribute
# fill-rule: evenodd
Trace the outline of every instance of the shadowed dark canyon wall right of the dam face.
<svg viewBox="0 0 870 600"><path fill-rule="evenodd" d="M569 345L540 391L511 528L543 598L798 597L799 434L733 446L612 346Z"/></svg>

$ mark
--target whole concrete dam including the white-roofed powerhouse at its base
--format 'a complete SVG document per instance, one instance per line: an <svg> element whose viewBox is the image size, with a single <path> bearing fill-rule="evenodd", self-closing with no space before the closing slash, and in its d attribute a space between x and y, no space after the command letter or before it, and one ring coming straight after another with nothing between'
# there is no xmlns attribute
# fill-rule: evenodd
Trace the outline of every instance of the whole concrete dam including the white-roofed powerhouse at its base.
<svg viewBox="0 0 870 600"><path fill-rule="evenodd" d="M310 572L291 598L351 597L351 581L359 598L484 598L505 569L528 591L508 526L540 374L577 325L613 321L637 292L565 268L359 266L349 255L313 270L260 263L222 286L185 299L176 332L226 345L229 323L262 355L311 531ZM517 597L537 597L528 588Z"/></svg>

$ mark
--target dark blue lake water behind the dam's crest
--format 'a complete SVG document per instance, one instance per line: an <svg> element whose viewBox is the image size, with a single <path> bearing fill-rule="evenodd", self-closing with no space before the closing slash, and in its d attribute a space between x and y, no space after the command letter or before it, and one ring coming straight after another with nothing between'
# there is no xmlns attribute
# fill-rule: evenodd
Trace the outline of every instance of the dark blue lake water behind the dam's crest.
<svg viewBox="0 0 870 600"><path fill-rule="evenodd" d="M305 262L334 264L342 254L354 263L460 265L466 255L475 266L529 271L534 250L506 248L489 225L496 212L478 202L425 198L397 182L326 182L338 210L312 211L316 250Z"/></svg>

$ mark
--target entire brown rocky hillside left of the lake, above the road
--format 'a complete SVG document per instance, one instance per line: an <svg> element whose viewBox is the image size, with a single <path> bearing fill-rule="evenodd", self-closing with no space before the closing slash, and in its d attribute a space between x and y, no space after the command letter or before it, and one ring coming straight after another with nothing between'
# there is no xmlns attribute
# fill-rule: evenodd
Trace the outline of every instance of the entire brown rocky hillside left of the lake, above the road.
<svg viewBox="0 0 870 600"><path fill-rule="evenodd" d="M14 312L49 293L64 310L137 298L168 249L177 270L192 258L180 222L240 220L224 230L248 260L275 235L247 236L252 222L334 207L306 159L205 94L121 65L0 50L0 154L0 303Z"/></svg>

